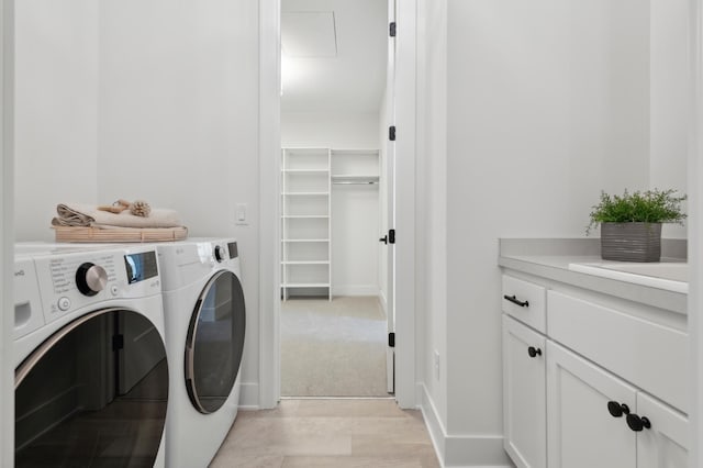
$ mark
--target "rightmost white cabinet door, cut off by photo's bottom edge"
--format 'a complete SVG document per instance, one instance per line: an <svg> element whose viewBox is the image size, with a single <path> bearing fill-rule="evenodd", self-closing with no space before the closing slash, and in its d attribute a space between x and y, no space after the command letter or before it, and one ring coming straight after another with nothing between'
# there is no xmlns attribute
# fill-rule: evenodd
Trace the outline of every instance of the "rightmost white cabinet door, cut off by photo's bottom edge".
<svg viewBox="0 0 703 468"><path fill-rule="evenodd" d="M637 468L687 468L688 419L645 393L637 394L637 413L649 428L637 433Z"/></svg>

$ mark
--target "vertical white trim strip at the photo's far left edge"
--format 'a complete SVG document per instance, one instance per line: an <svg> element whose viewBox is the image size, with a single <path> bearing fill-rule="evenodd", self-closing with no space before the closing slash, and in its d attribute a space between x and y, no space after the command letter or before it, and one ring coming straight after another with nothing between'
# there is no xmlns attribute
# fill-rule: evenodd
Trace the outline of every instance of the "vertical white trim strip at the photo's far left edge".
<svg viewBox="0 0 703 468"><path fill-rule="evenodd" d="M14 265L14 155L13 155L13 115L14 115L14 2L0 0L0 152L2 152L2 188L0 194L0 466L12 467L14 463L14 371L12 361L13 310L13 265Z"/></svg>

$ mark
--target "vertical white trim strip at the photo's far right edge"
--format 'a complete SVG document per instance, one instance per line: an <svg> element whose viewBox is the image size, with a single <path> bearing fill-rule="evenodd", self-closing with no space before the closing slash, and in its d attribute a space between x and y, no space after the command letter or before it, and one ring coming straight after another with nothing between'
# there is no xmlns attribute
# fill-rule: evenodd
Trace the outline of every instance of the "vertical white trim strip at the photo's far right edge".
<svg viewBox="0 0 703 468"><path fill-rule="evenodd" d="M691 439L689 466L703 465L703 5L701 0L690 0L690 57L691 57L691 127L688 161L689 194L689 336L691 341Z"/></svg>

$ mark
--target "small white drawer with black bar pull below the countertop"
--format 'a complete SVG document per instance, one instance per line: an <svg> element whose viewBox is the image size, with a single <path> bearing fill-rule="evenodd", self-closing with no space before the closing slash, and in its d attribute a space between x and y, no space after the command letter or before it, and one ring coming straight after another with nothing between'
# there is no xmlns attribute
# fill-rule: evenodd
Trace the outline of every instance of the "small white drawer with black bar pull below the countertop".
<svg viewBox="0 0 703 468"><path fill-rule="evenodd" d="M503 312L545 333L545 303L544 287L503 275Z"/></svg>

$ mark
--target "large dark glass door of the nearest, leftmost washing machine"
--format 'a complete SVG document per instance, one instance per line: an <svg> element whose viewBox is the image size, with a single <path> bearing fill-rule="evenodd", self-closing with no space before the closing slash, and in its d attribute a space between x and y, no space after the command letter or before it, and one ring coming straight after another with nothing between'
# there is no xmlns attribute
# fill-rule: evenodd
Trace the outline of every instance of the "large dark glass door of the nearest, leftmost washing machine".
<svg viewBox="0 0 703 468"><path fill-rule="evenodd" d="M157 343L148 356L121 334L125 322ZM126 386L125 375L141 377ZM153 467L168 404L164 342L140 313L91 312L15 369L14 395L15 467Z"/></svg>

